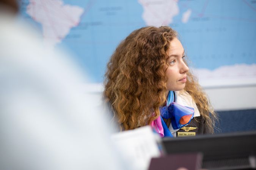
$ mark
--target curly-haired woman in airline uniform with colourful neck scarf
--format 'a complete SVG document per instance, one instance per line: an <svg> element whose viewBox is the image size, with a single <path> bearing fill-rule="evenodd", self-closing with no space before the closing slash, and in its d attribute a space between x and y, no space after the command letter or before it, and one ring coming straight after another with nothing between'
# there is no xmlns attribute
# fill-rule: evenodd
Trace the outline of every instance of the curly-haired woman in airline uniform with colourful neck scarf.
<svg viewBox="0 0 256 170"><path fill-rule="evenodd" d="M121 130L151 125L161 136L214 133L217 116L170 27L133 31L116 48L105 76L104 97Z"/></svg>

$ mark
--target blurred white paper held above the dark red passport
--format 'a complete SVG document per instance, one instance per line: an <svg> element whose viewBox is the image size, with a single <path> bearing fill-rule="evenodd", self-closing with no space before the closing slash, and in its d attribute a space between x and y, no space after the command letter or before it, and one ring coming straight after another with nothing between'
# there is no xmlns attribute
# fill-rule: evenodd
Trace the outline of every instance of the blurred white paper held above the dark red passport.
<svg viewBox="0 0 256 170"><path fill-rule="evenodd" d="M150 126L122 131L112 135L112 140L127 162L136 170L146 170L152 157L159 157L157 142L160 136Z"/></svg>

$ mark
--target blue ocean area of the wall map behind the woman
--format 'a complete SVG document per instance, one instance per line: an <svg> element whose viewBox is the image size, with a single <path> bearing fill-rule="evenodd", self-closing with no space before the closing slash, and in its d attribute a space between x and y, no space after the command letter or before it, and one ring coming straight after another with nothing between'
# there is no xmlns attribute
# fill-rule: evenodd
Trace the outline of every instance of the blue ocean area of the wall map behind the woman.
<svg viewBox="0 0 256 170"><path fill-rule="evenodd" d="M67 48L93 82L102 82L107 62L116 46L133 30L147 26L142 17L143 6L138 0L61 2L79 6L83 14L79 25L72 27L55 47ZM221 66L256 63L255 0L175 2L179 13L173 16L169 26L179 33L192 67L215 70ZM27 14L30 3L22 0L21 16L42 31L41 23ZM186 22L182 22L186 12L191 14Z"/></svg>

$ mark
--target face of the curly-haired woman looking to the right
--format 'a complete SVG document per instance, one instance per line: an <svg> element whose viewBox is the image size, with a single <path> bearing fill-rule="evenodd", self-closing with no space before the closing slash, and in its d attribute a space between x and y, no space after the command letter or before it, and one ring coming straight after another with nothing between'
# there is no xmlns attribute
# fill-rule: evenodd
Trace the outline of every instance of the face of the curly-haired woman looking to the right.
<svg viewBox="0 0 256 170"><path fill-rule="evenodd" d="M170 47L167 51L169 56L168 68L166 70L167 90L179 91L184 89L187 81L188 66L184 62L184 48L181 42L174 38L170 42Z"/></svg>

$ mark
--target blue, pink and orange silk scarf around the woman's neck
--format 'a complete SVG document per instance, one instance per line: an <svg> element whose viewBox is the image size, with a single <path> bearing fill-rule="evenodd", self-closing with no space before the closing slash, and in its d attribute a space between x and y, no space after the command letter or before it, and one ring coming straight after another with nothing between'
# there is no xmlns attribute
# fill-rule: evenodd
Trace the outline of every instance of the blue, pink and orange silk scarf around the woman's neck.
<svg viewBox="0 0 256 170"><path fill-rule="evenodd" d="M171 119L173 129L179 129L189 124L194 116L194 108L182 106L174 102L174 91L169 91L166 105L160 107L161 115L151 122L151 127L160 134L161 137L173 137L164 119Z"/></svg>

